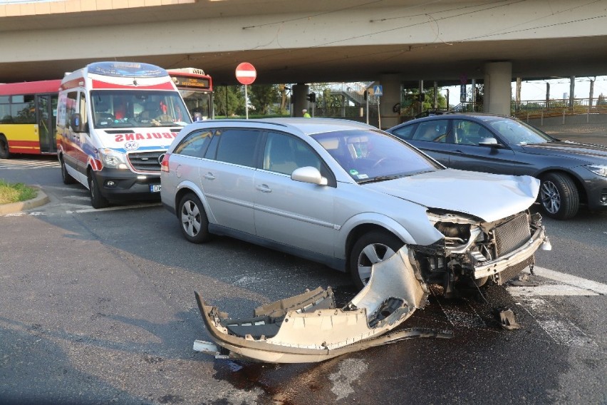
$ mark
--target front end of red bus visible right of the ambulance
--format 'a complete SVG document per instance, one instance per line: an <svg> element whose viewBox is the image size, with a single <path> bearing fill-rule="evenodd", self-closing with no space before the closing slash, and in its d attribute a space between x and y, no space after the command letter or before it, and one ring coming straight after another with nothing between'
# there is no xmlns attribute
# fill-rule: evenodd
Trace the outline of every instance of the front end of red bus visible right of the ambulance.
<svg viewBox="0 0 607 405"><path fill-rule="evenodd" d="M194 121L214 118L213 82L198 68L167 69Z"/></svg>

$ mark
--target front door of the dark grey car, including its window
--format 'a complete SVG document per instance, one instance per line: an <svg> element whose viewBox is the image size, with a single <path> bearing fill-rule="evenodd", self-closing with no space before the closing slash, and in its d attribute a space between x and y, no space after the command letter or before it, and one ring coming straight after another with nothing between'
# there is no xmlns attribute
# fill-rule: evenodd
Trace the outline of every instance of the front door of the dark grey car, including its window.
<svg viewBox="0 0 607 405"><path fill-rule="evenodd" d="M481 123L465 119L452 119L447 167L476 172L515 174L518 163L509 146L495 137ZM494 145L479 145L481 140L495 139Z"/></svg>

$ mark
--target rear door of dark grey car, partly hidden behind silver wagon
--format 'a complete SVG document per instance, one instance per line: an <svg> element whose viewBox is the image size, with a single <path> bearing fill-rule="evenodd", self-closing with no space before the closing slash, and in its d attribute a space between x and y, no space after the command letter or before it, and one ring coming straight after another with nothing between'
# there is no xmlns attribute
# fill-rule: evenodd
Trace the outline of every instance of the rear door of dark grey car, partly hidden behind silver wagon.
<svg viewBox="0 0 607 405"><path fill-rule="evenodd" d="M450 144L447 143L451 136L450 123L447 119L421 121L413 133L408 134L409 139L403 135L404 131L395 130L394 135L407 140L415 148L423 150L443 165L449 165Z"/></svg>

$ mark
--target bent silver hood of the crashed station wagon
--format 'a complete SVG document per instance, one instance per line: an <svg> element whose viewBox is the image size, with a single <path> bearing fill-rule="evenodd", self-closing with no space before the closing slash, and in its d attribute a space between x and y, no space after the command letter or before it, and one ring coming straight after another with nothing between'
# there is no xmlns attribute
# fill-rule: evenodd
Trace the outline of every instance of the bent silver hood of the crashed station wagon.
<svg viewBox="0 0 607 405"><path fill-rule="evenodd" d="M363 187L429 208L457 211L492 222L526 210L537 198L539 180L445 169Z"/></svg>

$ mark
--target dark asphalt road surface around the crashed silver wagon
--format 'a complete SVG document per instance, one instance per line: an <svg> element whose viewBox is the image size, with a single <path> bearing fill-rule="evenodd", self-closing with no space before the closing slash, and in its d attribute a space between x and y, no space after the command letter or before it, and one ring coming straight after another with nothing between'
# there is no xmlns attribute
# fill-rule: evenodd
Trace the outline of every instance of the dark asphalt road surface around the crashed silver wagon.
<svg viewBox="0 0 607 405"><path fill-rule="evenodd" d="M232 317L306 288L356 291L345 274L227 237L192 245L160 205L92 210L53 158L0 160L0 178L51 202L0 217L0 403L607 404L607 215L544 220L554 250L537 265L574 275L430 297L404 327L453 331L319 364L251 364L192 350L209 340L194 289ZM586 283L586 284L585 284ZM558 288L557 288L558 287ZM597 292L598 291L598 292ZM570 294L571 293L571 294ZM511 308L506 331L495 308Z"/></svg>

